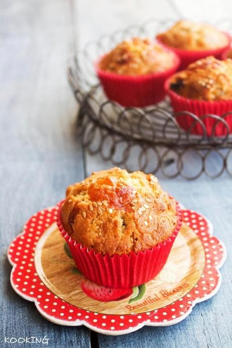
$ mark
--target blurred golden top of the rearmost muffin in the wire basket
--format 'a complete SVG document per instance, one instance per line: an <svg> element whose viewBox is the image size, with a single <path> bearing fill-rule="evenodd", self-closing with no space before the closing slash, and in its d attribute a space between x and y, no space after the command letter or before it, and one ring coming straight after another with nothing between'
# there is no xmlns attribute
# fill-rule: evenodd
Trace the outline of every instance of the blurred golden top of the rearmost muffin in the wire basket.
<svg viewBox="0 0 232 348"><path fill-rule="evenodd" d="M206 23L178 21L157 38L165 45L185 50L207 50L226 46L228 38Z"/></svg>

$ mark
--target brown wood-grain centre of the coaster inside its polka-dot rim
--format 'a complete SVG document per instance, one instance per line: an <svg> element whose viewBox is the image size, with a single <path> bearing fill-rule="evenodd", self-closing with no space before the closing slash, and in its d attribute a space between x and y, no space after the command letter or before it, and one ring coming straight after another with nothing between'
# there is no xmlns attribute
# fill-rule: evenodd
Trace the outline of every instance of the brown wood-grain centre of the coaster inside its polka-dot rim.
<svg viewBox="0 0 232 348"><path fill-rule="evenodd" d="M205 266L200 239L188 225L183 224L164 268L146 283L146 291L140 303L149 297L154 298L155 294L161 294L163 290L171 292L173 288L183 284L184 287L168 297L160 296L155 298L154 303L134 309L128 307L129 298L100 302L87 297L81 288L83 275L73 274L75 262L67 256L64 243L64 238L54 223L45 231L36 247L36 272L47 288L62 300L87 311L103 314L139 314L168 306L191 291Z"/></svg>

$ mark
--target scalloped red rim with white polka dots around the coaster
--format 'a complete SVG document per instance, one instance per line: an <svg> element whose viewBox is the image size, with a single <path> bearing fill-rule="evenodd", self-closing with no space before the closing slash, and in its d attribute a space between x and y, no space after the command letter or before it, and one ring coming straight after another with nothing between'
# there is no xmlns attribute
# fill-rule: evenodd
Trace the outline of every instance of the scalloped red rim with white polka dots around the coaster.
<svg viewBox="0 0 232 348"><path fill-rule="evenodd" d="M11 243L8 258L13 266L11 284L21 297L33 301L48 320L61 325L85 325L105 334L124 334L144 325L166 326L180 322L196 303L216 294L221 283L220 266L225 260L225 247L212 236L211 223L200 214L183 209L183 220L197 234L205 253L205 266L198 283L188 294L168 306L140 314L101 314L78 308L55 296L41 281L34 256L38 241L55 221L57 207L34 214L23 233Z"/></svg>

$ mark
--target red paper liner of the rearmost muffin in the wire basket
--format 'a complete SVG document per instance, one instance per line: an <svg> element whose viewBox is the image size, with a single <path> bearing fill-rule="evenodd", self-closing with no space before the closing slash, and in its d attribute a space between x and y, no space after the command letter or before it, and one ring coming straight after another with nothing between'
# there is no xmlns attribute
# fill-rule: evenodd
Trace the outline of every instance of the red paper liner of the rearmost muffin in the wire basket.
<svg viewBox="0 0 232 348"><path fill-rule="evenodd" d="M162 41L156 36L156 40L163 45L164 47L169 48L170 50L172 50L173 52L175 52L180 60L181 60L181 64L179 66L179 71L186 69L188 67L189 64L198 61L199 59L205 58L209 55L213 55L215 58L217 59L221 59L221 54L229 47L230 42L231 42L231 37L229 34L224 33L227 38L228 38L228 43L227 45L217 48L217 49L207 49L207 50L198 50L198 51L190 51L190 50L186 50L186 49L179 49L179 48L174 48L174 47L170 47L165 45L164 43L162 43Z"/></svg>

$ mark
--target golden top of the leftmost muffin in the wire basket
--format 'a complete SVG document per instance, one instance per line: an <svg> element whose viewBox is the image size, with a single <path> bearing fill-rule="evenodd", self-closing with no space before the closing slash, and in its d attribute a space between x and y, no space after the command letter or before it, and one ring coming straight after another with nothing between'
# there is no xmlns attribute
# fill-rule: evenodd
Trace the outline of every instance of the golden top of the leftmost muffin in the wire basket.
<svg viewBox="0 0 232 348"><path fill-rule="evenodd" d="M174 61L175 55L158 43L134 37L105 54L99 68L109 73L138 76L166 71Z"/></svg>

